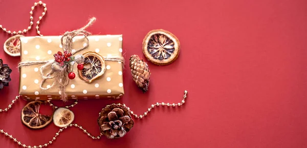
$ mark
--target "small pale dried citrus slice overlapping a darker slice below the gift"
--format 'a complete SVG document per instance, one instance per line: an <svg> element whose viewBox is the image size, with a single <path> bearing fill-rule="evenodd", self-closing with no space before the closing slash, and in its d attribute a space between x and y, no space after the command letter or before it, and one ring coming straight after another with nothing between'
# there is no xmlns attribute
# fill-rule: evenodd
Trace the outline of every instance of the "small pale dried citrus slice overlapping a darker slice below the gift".
<svg viewBox="0 0 307 148"><path fill-rule="evenodd" d="M57 127L65 127L74 121L75 115L68 108L60 107L53 114L53 123Z"/></svg>

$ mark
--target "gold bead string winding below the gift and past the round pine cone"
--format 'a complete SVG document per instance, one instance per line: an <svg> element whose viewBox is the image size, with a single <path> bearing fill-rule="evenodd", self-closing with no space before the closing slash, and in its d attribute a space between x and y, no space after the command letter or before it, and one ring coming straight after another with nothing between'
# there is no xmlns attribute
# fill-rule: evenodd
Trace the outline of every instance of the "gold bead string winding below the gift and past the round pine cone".
<svg viewBox="0 0 307 148"><path fill-rule="evenodd" d="M176 106L181 106L183 104L185 104L185 99L187 98L187 94L188 92L187 91L184 91L184 95L183 95L183 99L180 103L159 103L157 102L156 104L152 104L146 112L144 112L142 115L137 115L135 114L133 111L130 110L129 107L127 107L125 104L115 104L113 103L112 105L118 105L118 106L122 106L122 107L126 107L128 109L128 111L134 115L134 117L138 118L138 119L143 119L144 116L146 116L153 108L155 108L156 106L171 106L171 107L176 107ZM8 105L8 108L5 108L4 110L0 109L0 112L2 111L8 111L10 108L12 108L12 105L19 99L19 96L16 96L14 100L12 100L12 103ZM50 101L48 101L50 103ZM77 102L75 102L75 104L73 105L76 105ZM53 106L53 104L50 103L50 106ZM107 106L110 106L110 105L107 105ZM56 106L55 106L56 107ZM67 106L67 107L73 107L72 105L71 106ZM100 114L100 113L99 113ZM48 143L45 143L45 144L42 144L42 145L34 145L34 146L31 146L31 145L26 145L24 143L21 143L20 141L18 141L16 138L14 138L12 135L8 134L7 132L5 132L4 130L0 129L0 134L4 134L5 136L9 137L10 139L14 140L14 142L16 142L18 145L21 145L23 147L28 147L28 148L41 148L41 147L47 147L48 145L52 144L55 140L56 140L56 137L59 136L59 134L61 132L63 132L63 130L69 128L69 127L75 127L75 128L79 128L79 130L82 130L87 136L91 137L92 139L100 139L100 137L102 136L102 134L100 134L99 136L93 136L92 134L90 134L89 132L87 132L82 126L80 125L77 125L77 124L70 124L68 126L65 126L61 129L59 129L59 131L57 133L55 133L55 136L52 137L52 139L48 142Z"/></svg>

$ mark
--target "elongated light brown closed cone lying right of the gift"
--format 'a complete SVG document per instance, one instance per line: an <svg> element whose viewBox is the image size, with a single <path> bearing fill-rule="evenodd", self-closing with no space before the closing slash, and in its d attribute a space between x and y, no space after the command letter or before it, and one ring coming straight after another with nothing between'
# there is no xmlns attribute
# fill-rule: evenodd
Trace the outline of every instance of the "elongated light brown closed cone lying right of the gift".
<svg viewBox="0 0 307 148"><path fill-rule="evenodd" d="M130 56L130 69L133 80L141 88L143 93L148 91L150 70L148 65L138 55Z"/></svg>

